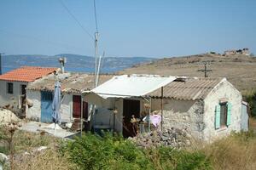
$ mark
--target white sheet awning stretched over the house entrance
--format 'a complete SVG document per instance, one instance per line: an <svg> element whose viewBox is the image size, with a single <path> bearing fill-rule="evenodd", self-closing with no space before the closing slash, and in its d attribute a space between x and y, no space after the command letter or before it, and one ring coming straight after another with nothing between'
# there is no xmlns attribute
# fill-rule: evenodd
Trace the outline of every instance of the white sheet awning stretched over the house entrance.
<svg viewBox="0 0 256 170"><path fill-rule="evenodd" d="M122 75L115 76L108 82L91 90L91 92L108 98L141 97L154 90L166 86L176 77L162 77L158 75Z"/></svg>

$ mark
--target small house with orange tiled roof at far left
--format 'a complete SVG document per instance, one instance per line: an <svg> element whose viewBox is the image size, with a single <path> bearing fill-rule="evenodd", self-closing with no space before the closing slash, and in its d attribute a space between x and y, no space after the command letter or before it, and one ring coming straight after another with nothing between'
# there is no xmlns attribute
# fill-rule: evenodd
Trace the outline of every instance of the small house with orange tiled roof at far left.
<svg viewBox="0 0 256 170"><path fill-rule="evenodd" d="M11 111L24 111L23 103L28 82L34 82L55 71L57 68L22 66L0 75L0 107Z"/></svg>

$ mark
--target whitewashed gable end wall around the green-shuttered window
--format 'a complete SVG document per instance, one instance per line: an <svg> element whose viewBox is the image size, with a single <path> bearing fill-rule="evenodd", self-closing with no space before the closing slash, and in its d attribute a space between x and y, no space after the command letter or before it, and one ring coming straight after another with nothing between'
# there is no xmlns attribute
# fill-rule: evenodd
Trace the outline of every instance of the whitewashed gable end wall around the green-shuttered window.
<svg viewBox="0 0 256 170"><path fill-rule="evenodd" d="M224 98L232 105L231 123L229 127L215 129L215 106L219 104L219 99ZM204 101L204 122L206 122L203 131L204 140L212 141L230 134L231 131L241 131L241 94L230 82L226 80L220 82Z"/></svg>

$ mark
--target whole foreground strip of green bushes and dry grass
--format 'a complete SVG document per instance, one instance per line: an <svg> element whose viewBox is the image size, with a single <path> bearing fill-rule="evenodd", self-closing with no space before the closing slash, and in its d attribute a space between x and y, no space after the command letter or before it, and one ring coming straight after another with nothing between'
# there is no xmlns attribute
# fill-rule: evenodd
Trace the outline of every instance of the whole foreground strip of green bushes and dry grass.
<svg viewBox="0 0 256 170"><path fill-rule="evenodd" d="M100 137L85 133L82 138L63 141L16 131L14 139L14 169L256 169L256 134L252 130L183 150L138 148L130 140L110 134ZM48 149L22 155L42 145Z"/></svg>

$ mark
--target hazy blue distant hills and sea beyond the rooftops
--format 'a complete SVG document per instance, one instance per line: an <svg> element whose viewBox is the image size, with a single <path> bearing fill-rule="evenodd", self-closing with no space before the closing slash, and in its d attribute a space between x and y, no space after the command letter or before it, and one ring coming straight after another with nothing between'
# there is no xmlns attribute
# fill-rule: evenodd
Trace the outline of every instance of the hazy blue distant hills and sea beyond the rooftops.
<svg viewBox="0 0 256 170"><path fill-rule="evenodd" d="M67 57L67 71L92 72L95 70L95 58L77 54L47 55L3 55L3 72L13 70L22 65L60 67L58 59ZM106 57L103 59L102 72L121 71L139 63L151 62L154 59L146 57Z"/></svg>

